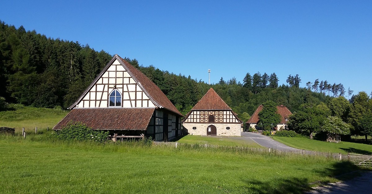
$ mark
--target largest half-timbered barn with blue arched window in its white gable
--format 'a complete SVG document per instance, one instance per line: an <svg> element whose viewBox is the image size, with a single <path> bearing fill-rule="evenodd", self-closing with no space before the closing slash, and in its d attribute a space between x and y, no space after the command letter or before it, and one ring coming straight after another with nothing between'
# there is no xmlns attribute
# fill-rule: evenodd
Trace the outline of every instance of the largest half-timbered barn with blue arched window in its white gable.
<svg viewBox="0 0 372 194"><path fill-rule="evenodd" d="M148 137L168 141L181 134L183 115L141 71L115 55L53 129L81 122L108 131L113 140Z"/></svg>

